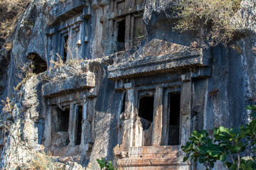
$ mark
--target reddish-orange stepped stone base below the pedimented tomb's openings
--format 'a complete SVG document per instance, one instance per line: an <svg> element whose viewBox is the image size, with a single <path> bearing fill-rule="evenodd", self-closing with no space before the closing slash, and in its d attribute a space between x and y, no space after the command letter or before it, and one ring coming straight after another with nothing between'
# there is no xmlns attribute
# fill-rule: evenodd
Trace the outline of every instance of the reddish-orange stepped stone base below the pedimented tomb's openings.
<svg viewBox="0 0 256 170"><path fill-rule="evenodd" d="M189 162L183 162L183 156L179 152L179 145L174 146L149 146L149 147L130 147L128 157L117 160L119 168L132 167L134 169L143 168L165 168L172 166L189 168ZM114 147L114 154L124 154L122 145ZM124 155L124 156L125 156ZM175 169L175 168L174 168Z"/></svg>

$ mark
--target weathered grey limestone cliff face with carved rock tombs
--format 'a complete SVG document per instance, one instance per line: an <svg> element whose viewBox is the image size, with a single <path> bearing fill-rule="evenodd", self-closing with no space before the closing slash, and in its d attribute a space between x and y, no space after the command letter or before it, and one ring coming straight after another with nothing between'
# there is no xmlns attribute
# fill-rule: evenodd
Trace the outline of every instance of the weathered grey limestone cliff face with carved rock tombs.
<svg viewBox="0 0 256 170"><path fill-rule="evenodd" d="M100 169L100 157L119 169L189 169L179 146L192 130L246 123L256 96L256 2L242 1L234 17L245 36L196 50L196 32L172 30L175 3L32 1L9 57L0 56L0 95L14 104L1 113L0 167L32 168L44 151L62 162L49 169ZM28 62L45 72L14 91Z"/></svg>

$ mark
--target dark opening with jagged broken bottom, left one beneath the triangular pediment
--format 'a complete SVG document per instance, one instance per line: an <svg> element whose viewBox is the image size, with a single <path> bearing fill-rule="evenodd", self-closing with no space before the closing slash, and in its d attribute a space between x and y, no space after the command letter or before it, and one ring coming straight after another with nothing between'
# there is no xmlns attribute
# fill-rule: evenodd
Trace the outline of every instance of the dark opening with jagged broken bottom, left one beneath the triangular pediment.
<svg viewBox="0 0 256 170"><path fill-rule="evenodd" d="M143 130L149 129L154 117L154 96L143 96L139 99L139 117Z"/></svg>

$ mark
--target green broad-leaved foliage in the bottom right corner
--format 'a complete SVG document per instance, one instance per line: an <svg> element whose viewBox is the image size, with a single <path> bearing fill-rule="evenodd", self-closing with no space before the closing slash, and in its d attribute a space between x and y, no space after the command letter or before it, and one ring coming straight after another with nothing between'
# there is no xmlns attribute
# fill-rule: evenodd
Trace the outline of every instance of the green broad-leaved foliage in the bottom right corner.
<svg viewBox="0 0 256 170"><path fill-rule="evenodd" d="M239 128L213 128L213 137L206 130L193 131L189 141L181 149L186 152L183 162L189 157L212 169L220 160L227 169L256 169L256 106L247 106L253 120Z"/></svg>

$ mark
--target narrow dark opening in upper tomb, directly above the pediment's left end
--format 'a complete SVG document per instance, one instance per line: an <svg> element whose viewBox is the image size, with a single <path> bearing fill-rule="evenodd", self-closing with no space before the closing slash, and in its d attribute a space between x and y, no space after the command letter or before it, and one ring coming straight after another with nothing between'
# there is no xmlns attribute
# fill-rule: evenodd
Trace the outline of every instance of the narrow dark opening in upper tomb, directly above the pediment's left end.
<svg viewBox="0 0 256 170"><path fill-rule="evenodd" d="M117 33L117 50L124 51L125 41L125 19L118 22L118 33Z"/></svg>

